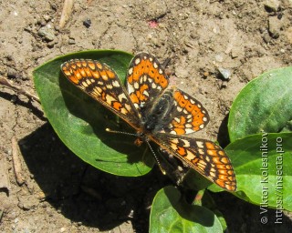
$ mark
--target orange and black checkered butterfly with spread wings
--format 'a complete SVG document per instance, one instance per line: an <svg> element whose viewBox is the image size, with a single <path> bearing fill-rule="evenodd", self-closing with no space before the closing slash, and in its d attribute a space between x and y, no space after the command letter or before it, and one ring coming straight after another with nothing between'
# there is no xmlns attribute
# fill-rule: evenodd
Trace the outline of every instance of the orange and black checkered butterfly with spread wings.
<svg viewBox="0 0 292 233"><path fill-rule="evenodd" d="M61 69L75 86L133 127L141 141L157 143L218 186L236 190L235 172L224 150L212 141L185 136L207 125L207 110L193 96L169 86L155 56L134 56L126 87L99 61L73 59Z"/></svg>

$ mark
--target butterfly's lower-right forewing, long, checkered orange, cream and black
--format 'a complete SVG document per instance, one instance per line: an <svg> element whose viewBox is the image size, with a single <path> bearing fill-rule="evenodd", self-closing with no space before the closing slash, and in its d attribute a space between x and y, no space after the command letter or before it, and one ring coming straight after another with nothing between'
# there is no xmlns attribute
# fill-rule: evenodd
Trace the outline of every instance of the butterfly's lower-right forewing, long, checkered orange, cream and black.
<svg viewBox="0 0 292 233"><path fill-rule="evenodd" d="M231 162L224 150L214 142L166 134L159 134L152 139L203 177L228 191L236 190L235 171Z"/></svg>

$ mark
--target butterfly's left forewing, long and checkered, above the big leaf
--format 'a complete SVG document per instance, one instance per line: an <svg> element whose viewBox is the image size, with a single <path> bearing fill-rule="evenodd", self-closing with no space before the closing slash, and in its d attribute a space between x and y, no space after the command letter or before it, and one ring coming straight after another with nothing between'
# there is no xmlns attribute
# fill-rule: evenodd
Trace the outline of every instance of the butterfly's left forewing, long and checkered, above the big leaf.
<svg viewBox="0 0 292 233"><path fill-rule="evenodd" d="M75 86L108 107L132 127L139 127L137 111L119 77L109 66L89 59L73 59L65 62L61 70Z"/></svg>

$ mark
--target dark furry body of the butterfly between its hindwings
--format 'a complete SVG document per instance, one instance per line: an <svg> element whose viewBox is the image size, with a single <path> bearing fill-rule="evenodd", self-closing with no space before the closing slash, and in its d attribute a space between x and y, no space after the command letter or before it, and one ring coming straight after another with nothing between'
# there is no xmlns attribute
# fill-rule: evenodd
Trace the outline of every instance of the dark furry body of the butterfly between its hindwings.
<svg viewBox="0 0 292 233"><path fill-rule="evenodd" d="M141 124L144 133L155 134L171 122L173 107L172 89L165 90L161 96L152 97L148 105L141 108Z"/></svg>

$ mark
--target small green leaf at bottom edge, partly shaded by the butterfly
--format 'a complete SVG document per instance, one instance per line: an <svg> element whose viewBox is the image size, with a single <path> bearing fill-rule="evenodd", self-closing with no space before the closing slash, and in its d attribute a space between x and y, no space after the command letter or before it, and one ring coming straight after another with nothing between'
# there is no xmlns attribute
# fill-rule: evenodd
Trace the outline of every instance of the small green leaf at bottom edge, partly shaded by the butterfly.
<svg viewBox="0 0 292 233"><path fill-rule="evenodd" d="M223 232L223 228L211 210L188 205L175 187L164 187L152 203L150 232Z"/></svg>

